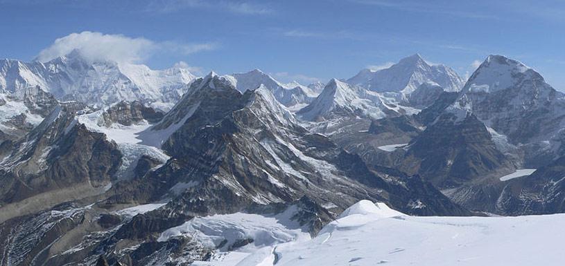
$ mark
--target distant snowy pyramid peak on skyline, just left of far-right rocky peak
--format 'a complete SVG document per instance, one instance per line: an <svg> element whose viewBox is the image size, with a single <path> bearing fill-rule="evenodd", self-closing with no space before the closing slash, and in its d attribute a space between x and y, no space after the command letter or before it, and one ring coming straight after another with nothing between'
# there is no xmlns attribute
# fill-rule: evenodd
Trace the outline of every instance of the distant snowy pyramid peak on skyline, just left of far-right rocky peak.
<svg viewBox="0 0 565 266"><path fill-rule="evenodd" d="M445 91L460 91L464 80L444 65L433 65L419 54L401 59L397 64L381 70L361 70L347 79L349 84L362 86L371 91L411 93L422 83L432 81Z"/></svg>

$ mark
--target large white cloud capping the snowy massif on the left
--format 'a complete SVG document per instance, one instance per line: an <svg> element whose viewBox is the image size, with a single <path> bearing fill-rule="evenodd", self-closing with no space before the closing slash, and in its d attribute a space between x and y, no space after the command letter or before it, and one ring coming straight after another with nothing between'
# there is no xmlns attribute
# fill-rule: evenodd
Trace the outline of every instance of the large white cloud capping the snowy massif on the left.
<svg viewBox="0 0 565 266"><path fill-rule="evenodd" d="M108 35L101 32L84 31L71 33L55 39L53 44L43 49L37 59L49 61L79 50L88 60L112 60L127 63L143 62L150 55L160 52L189 55L204 50L214 50L216 44L179 44L174 41L155 42L145 38L132 38L124 35Z"/></svg>

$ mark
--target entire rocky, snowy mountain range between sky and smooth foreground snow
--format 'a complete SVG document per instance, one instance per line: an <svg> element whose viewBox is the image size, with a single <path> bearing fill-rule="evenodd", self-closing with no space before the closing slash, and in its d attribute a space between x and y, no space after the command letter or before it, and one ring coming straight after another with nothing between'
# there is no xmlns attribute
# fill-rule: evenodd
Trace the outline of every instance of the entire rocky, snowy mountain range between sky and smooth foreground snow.
<svg viewBox="0 0 565 266"><path fill-rule="evenodd" d="M75 50L1 60L0 89L0 266L243 256L360 200L394 216L564 211L565 97L501 56L466 83L413 55L303 86Z"/></svg>

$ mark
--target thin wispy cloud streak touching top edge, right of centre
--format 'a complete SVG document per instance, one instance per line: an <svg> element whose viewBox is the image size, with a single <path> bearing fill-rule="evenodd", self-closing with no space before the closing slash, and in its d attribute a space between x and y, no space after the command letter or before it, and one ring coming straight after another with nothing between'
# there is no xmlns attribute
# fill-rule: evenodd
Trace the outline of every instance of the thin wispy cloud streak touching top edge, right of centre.
<svg viewBox="0 0 565 266"><path fill-rule="evenodd" d="M496 15L462 11L447 8L444 3L431 3L430 1L385 1L385 0L349 0L351 3L358 3L367 6L379 6L381 8L391 8L407 12L420 12L448 15L452 17L462 17L467 19L500 19Z"/></svg>

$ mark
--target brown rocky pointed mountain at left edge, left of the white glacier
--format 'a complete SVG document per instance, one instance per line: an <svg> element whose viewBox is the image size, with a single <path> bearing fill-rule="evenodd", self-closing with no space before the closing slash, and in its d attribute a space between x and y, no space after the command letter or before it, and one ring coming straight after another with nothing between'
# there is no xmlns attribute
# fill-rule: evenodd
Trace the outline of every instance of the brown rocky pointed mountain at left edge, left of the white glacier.
<svg viewBox="0 0 565 266"><path fill-rule="evenodd" d="M1 220L100 193L121 156L103 134L76 124L73 115L61 107L14 146L0 165ZM30 205L40 198L43 206Z"/></svg>

